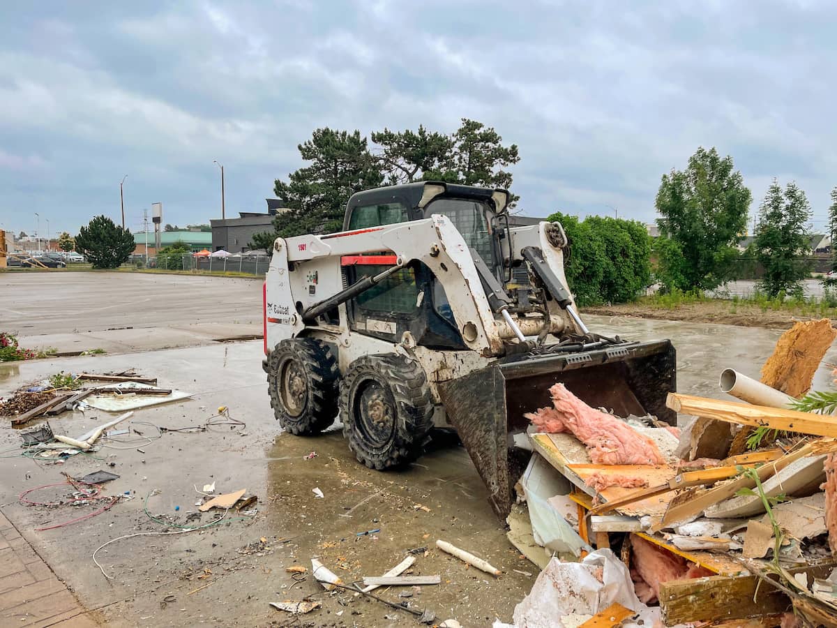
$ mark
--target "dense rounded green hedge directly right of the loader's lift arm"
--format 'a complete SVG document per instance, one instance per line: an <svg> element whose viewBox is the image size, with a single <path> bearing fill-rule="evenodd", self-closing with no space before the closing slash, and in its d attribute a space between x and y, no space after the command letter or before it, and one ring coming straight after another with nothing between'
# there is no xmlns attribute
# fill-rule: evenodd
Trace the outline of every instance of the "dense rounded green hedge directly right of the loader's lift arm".
<svg viewBox="0 0 837 628"><path fill-rule="evenodd" d="M634 220L552 214L569 239L564 260L567 283L578 305L633 301L650 285L651 243Z"/></svg>

